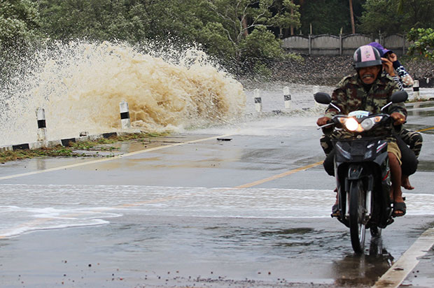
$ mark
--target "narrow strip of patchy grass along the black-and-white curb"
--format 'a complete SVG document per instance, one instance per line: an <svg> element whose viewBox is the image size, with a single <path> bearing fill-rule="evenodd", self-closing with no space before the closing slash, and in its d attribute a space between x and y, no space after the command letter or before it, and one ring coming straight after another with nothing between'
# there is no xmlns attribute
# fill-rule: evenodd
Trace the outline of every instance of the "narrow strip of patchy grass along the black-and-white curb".
<svg viewBox="0 0 434 288"><path fill-rule="evenodd" d="M118 150L118 148L110 146L110 144L123 142L123 141L149 141L149 138L165 136L167 134L148 134L148 133L135 133L127 134L125 136L111 136L110 138L99 138L95 141L79 141L70 143L69 147L58 145L56 147L43 147L35 150L14 150L0 152L0 162L4 164L8 161L16 161L20 159L29 159L36 157L113 157L114 154L102 155L80 153L77 150L85 151L109 151Z"/></svg>

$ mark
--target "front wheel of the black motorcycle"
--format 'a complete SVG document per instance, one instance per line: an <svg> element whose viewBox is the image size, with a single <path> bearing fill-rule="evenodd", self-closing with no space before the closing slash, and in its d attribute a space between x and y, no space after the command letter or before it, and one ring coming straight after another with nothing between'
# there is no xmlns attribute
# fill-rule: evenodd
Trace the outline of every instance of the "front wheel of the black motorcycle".
<svg viewBox="0 0 434 288"><path fill-rule="evenodd" d="M365 247L365 192L361 180L352 181L349 189L349 231L354 252Z"/></svg>

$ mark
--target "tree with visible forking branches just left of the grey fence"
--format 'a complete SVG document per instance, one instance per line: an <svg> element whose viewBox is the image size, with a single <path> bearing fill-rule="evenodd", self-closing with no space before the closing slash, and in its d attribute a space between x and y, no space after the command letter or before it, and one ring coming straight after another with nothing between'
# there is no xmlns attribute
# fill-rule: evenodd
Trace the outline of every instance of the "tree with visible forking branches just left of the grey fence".
<svg viewBox="0 0 434 288"><path fill-rule="evenodd" d="M219 23L218 31L224 31L232 45L230 59L241 66L276 57L276 47L279 47L279 57L283 57L279 41L269 29L288 29L291 24L300 24L297 6L289 0L208 0L208 3L218 17L214 20ZM291 7L295 10L293 15L288 13Z"/></svg>

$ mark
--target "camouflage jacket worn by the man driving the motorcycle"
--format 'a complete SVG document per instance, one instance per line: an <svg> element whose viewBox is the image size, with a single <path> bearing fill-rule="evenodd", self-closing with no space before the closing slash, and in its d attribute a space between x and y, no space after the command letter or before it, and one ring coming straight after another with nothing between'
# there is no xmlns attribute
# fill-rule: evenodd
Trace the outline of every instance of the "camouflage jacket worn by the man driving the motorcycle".
<svg viewBox="0 0 434 288"><path fill-rule="evenodd" d="M366 92L363 82L357 74L344 77L332 93L332 103L341 109L337 112L332 106L325 110L325 116L332 118L334 115L347 115L352 111L365 110L372 114L381 113L381 108L391 101L391 95L400 91L398 85L390 76L381 77L375 80ZM401 113L407 117L404 103L393 103L383 113ZM391 135L391 130L380 133Z"/></svg>

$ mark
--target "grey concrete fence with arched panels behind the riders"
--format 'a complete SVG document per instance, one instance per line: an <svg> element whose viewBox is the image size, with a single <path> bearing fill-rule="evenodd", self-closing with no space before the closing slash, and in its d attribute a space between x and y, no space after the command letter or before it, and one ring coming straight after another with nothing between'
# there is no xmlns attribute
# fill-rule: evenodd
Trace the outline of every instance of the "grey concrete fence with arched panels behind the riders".
<svg viewBox="0 0 434 288"><path fill-rule="evenodd" d="M393 50L397 55L404 55L409 48L405 36L393 34L386 37L372 38L363 34L335 35L297 35L283 39L282 48L304 55L353 55L361 45L376 41L383 47Z"/></svg>

